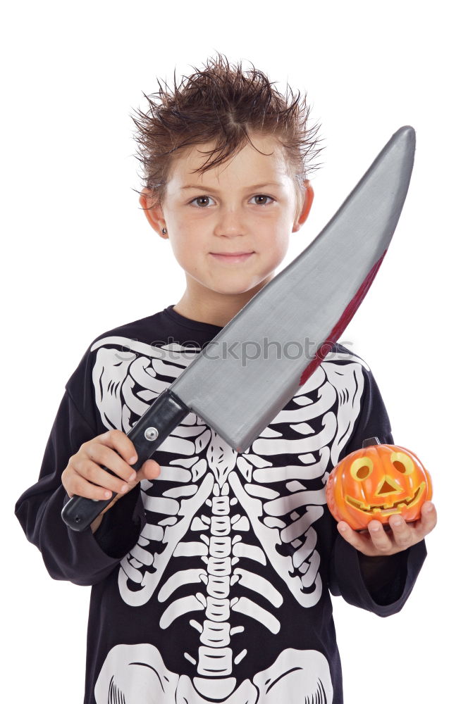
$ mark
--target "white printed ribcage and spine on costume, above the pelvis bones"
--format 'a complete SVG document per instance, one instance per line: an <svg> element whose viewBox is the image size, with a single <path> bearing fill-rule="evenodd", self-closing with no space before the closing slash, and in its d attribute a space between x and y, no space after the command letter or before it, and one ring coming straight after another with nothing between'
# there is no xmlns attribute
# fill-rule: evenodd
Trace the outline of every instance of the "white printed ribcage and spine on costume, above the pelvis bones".
<svg viewBox="0 0 468 704"><path fill-rule="evenodd" d="M111 427L128 432L193 358L179 348L169 363L167 349L151 350L142 356L140 344L140 356L128 353L116 365L115 349L99 349L93 374L101 417ZM156 599L161 629L188 621L199 648L184 654L200 677L233 672L246 654L235 636L252 620L277 633L275 610L286 593L304 608L319 601L314 523L324 514L328 472L359 413L362 380L354 358L322 363L245 453L193 413L156 451L161 475L141 484L147 524L121 561L118 586L128 605ZM231 625L233 613L242 625Z"/></svg>

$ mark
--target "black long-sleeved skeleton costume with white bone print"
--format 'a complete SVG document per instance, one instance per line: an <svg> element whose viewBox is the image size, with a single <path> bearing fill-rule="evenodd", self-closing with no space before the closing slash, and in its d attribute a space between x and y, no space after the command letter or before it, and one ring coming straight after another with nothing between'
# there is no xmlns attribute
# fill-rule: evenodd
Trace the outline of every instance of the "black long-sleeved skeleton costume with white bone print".
<svg viewBox="0 0 468 704"><path fill-rule="evenodd" d="M330 591L388 616L426 557L421 541L366 558L328 511L333 466L393 443L369 367L340 344L244 453L190 413L156 450L158 479L94 534L66 527L70 456L128 432L220 329L168 306L94 340L16 504L51 577L92 585L85 704L341 704Z"/></svg>

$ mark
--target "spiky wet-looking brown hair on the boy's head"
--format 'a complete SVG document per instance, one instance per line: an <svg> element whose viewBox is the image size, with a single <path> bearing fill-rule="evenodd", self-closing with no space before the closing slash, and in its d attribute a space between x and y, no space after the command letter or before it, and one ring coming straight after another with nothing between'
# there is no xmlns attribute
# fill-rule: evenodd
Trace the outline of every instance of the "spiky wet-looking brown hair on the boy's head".
<svg viewBox="0 0 468 704"><path fill-rule="evenodd" d="M214 149L205 152L207 160L196 170L204 173L227 161L247 142L252 144L250 135L254 133L274 135L285 149L298 202L302 202L302 180L319 168L314 163L321 151L319 125L309 126L305 95L300 101L300 92L295 96L287 84L284 96L250 63L252 70L243 71L242 62L230 65L226 56L217 52L204 70L192 66L195 73L183 76L179 85L174 71L172 91L158 79L159 91L144 94L148 109L135 110L132 119L137 127L142 180L153 191L155 203L163 203L172 161L183 149L214 142Z"/></svg>

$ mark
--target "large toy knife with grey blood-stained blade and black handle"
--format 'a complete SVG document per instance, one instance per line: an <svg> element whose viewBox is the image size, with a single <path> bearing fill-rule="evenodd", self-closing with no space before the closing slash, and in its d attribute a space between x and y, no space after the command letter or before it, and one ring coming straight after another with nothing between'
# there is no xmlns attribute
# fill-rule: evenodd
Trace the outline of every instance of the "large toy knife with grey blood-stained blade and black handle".
<svg viewBox="0 0 468 704"><path fill-rule="evenodd" d="M290 401L343 333L382 263L410 184L414 144L413 128L400 127L312 244L159 394L128 432L135 470L190 412L244 452ZM62 518L82 531L114 496L73 496Z"/></svg>

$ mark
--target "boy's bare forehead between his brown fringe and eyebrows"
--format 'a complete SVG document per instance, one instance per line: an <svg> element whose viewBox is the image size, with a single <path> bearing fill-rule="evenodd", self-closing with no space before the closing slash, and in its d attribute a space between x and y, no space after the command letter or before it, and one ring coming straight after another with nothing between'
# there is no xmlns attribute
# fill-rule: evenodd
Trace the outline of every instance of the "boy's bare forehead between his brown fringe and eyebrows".
<svg viewBox="0 0 468 704"><path fill-rule="evenodd" d="M215 142L195 144L181 151L171 164L168 182L173 187L183 187L185 183L208 184L213 182L239 182L254 178L283 181L288 179L288 161L285 150L278 140L271 135L250 134L254 146L247 142L237 153L226 161L204 173L197 173L215 149Z"/></svg>

